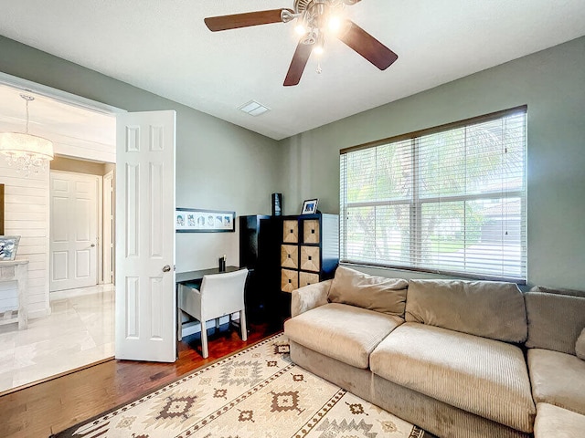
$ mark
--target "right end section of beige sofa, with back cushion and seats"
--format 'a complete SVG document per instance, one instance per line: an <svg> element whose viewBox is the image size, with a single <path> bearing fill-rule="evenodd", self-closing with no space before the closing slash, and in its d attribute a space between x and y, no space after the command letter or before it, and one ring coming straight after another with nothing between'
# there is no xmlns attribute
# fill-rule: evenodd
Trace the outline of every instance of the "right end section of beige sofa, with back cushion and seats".
<svg viewBox="0 0 585 438"><path fill-rule="evenodd" d="M525 301L535 436L585 437L585 294L536 287Z"/></svg>

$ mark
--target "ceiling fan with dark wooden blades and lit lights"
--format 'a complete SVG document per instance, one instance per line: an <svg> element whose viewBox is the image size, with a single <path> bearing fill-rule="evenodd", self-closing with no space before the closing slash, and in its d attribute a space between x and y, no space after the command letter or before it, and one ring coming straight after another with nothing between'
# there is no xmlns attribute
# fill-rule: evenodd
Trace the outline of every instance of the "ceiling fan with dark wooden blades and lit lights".
<svg viewBox="0 0 585 438"><path fill-rule="evenodd" d="M355 5L361 0L294 0L293 9L281 8L268 11L248 12L230 16L210 16L205 24L212 32L239 27L289 23L297 20L296 32L301 35L293 55L284 86L297 85L304 68L314 51L323 52L325 35L335 35L346 46L355 50L380 70L385 70L398 55L369 35L351 20L341 19L340 13L346 5Z"/></svg>

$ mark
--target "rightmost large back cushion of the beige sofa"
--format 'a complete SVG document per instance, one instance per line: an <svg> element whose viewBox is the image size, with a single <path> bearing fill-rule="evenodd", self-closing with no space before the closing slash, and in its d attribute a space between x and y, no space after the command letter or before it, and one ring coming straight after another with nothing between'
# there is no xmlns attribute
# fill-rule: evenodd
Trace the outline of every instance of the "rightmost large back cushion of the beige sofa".
<svg viewBox="0 0 585 438"><path fill-rule="evenodd" d="M585 328L585 297L528 292L525 299L527 347L575 355L575 342Z"/></svg>

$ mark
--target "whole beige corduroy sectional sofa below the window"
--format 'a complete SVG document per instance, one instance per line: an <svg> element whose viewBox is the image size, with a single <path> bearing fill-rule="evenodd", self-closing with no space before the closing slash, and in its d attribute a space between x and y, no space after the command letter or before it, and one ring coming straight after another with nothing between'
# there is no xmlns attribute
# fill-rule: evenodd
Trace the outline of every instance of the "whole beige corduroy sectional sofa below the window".
<svg viewBox="0 0 585 438"><path fill-rule="evenodd" d="M585 297L340 266L292 315L295 363L439 437L585 436Z"/></svg>

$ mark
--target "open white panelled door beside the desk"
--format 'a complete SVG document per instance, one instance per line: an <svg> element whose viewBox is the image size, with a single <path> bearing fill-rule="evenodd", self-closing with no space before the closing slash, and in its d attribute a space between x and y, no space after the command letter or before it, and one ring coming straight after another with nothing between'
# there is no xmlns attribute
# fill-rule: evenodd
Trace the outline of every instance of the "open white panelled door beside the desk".
<svg viewBox="0 0 585 438"><path fill-rule="evenodd" d="M176 360L175 111L117 118L116 359Z"/></svg>

